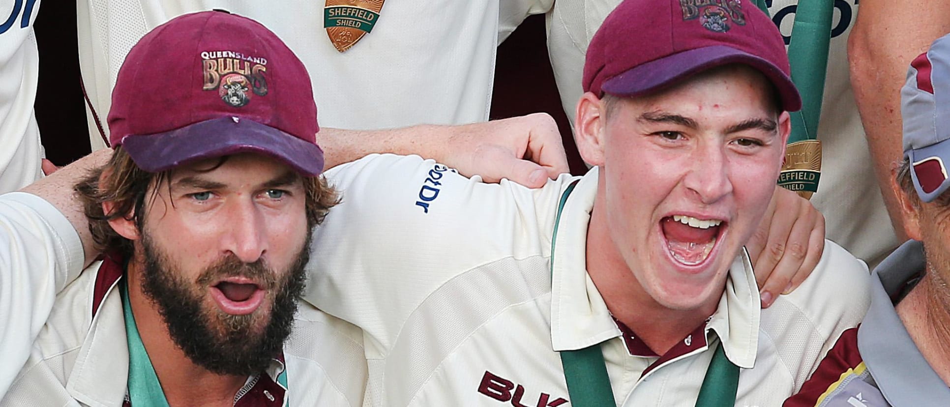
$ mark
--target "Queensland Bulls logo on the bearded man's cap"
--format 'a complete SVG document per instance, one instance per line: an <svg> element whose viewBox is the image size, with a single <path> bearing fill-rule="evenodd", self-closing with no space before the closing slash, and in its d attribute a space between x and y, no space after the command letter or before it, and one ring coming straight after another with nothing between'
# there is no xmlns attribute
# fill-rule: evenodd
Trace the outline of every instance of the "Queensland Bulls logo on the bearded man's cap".
<svg viewBox="0 0 950 407"><path fill-rule="evenodd" d="M234 51L201 52L202 89L218 90L222 102L241 107L267 95L267 59Z"/></svg>

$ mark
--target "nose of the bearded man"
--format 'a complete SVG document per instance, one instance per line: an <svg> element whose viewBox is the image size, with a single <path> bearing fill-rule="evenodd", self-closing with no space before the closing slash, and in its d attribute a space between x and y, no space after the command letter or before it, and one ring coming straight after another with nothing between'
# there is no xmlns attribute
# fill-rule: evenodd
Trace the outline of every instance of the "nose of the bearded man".
<svg viewBox="0 0 950 407"><path fill-rule="evenodd" d="M264 216L250 197L228 202L222 250L230 251L244 263L256 262L267 251Z"/></svg>

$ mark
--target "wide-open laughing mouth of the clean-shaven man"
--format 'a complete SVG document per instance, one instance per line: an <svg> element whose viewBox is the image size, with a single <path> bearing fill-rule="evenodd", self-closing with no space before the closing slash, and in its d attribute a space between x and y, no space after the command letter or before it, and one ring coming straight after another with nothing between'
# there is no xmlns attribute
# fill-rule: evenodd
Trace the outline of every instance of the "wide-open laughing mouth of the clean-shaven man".
<svg viewBox="0 0 950 407"><path fill-rule="evenodd" d="M659 223L670 255L685 266L705 261L725 226L720 219L698 219L685 214L664 217Z"/></svg>

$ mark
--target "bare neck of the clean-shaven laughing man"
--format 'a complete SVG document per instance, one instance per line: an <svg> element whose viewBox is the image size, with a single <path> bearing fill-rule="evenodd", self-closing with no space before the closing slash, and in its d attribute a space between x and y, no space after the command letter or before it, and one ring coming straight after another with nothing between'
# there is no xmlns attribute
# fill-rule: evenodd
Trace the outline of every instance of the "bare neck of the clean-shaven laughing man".
<svg viewBox="0 0 950 407"><path fill-rule="evenodd" d="M614 318L633 329L657 355L663 355L715 312L719 297L688 310L657 303L610 238L606 211L600 206L603 201L595 199L587 227L587 273Z"/></svg>

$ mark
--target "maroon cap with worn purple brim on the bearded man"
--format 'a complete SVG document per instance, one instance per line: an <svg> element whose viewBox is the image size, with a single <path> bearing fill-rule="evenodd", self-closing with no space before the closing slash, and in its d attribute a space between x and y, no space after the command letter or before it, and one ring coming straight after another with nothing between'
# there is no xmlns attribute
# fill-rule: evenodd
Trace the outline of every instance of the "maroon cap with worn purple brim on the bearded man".
<svg viewBox="0 0 950 407"><path fill-rule="evenodd" d="M307 69L271 30L226 11L145 34L119 70L108 125L112 147L148 172L237 153L323 171Z"/></svg>

